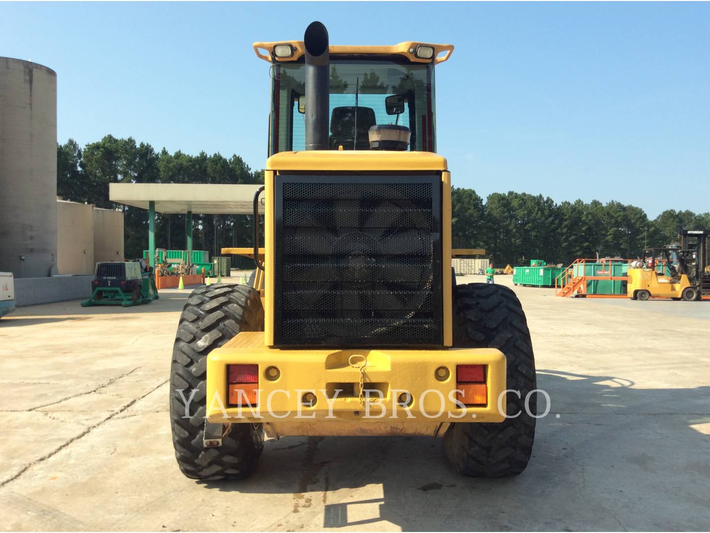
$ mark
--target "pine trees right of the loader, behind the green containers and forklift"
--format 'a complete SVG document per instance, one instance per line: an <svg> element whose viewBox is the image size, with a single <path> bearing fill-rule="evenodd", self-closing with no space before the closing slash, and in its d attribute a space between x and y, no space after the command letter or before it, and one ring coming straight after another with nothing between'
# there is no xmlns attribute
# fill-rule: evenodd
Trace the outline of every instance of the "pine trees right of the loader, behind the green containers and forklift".
<svg viewBox="0 0 710 533"><path fill-rule="evenodd" d="M710 213L665 210L650 220L643 209L616 201L555 203L528 193L452 190L454 248L485 248L496 266L530 259L565 265L577 258L635 259L643 250L678 242L682 229L710 229Z"/></svg>

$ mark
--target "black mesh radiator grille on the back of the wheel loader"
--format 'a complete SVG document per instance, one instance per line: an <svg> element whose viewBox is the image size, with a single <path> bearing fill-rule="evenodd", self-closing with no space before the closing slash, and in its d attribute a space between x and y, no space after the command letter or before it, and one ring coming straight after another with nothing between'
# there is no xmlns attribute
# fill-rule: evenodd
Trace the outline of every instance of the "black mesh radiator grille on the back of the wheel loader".
<svg viewBox="0 0 710 533"><path fill-rule="evenodd" d="M278 176L277 345L440 345L439 176Z"/></svg>

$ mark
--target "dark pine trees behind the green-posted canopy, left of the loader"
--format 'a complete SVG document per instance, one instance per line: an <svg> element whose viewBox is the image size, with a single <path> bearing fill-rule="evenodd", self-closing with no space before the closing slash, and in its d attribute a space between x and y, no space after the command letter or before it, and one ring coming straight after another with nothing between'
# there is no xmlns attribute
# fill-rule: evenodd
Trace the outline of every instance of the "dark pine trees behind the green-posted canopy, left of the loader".
<svg viewBox="0 0 710 533"><path fill-rule="evenodd" d="M232 155L208 156L204 151L191 156L176 151L155 151L134 139L107 135L82 149L69 139L57 147L57 195L64 200L92 203L99 208L124 212L124 255L143 256L148 249L148 213L109 202L109 183L263 183L263 170L252 171L244 160ZM208 250L210 257L222 255L222 247L251 246L252 215L203 215L192 217L192 249ZM187 217L156 215L155 245L185 249ZM233 258L233 266L249 268L251 260Z"/></svg>

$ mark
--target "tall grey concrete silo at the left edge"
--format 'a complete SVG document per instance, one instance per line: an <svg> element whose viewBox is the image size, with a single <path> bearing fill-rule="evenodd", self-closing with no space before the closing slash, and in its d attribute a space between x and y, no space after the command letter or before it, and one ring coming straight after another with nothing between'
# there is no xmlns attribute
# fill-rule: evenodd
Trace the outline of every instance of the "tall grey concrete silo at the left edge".
<svg viewBox="0 0 710 533"><path fill-rule="evenodd" d="M56 264L57 74L0 58L0 271L43 277Z"/></svg>

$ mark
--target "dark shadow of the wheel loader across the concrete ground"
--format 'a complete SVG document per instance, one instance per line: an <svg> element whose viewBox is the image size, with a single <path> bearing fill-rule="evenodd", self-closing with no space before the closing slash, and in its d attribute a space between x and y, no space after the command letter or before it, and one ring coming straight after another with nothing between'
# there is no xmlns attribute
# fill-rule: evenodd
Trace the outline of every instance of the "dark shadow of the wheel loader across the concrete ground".
<svg viewBox="0 0 710 533"><path fill-rule="evenodd" d="M643 430L644 424L653 423L654 416L628 419L623 415L667 414L673 421L671 429L683 432L684 438L674 443L672 451L657 451L648 461L665 461L684 452L697 455L709 446L707 436L689 426L710 422L710 387L634 389L633 382L618 377L554 370L538 370L538 387L550 394L550 414L537 421L530 464L515 478L485 480L459 475L447 462L440 438L294 437L268 441L258 470L249 480L204 485L219 491L293 494L293 508L275 512L281 513L279 516L301 513L306 529L309 523L310 527L339 528L376 522L409 531L634 529L635 521L643 519L635 502L649 497L633 475L627 475L628 469L640 468L640 459L631 453L638 449L624 450L612 444L609 436L639 431L637 426ZM544 403L538 399L540 413ZM646 426L645 431L657 429ZM610 447L615 448L614 453L633 456L626 463L619 460L611 465L615 468L611 471L619 476L613 484L609 483L608 469L600 466ZM705 455L697 468L710 474L710 458ZM584 475L584 483L580 483L580 475ZM381 485L381 494L373 495L370 489L367 499L349 500L355 497L355 489L368 485ZM599 510L594 507L587 519L586 511L577 512L581 515L577 517L564 512L575 501L589 507L590 501L599 500L600 486L607 487L609 497L625 502L621 515L597 515ZM315 496L314 492L322 494ZM551 494L561 505L557 510L550 510ZM667 507L669 522L659 526L661 529L694 529L674 515L672 502L659 497L654 505L660 510ZM551 517L555 512L559 512L557 519ZM710 512L706 512L710 524ZM266 529L278 526L273 522Z"/></svg>

